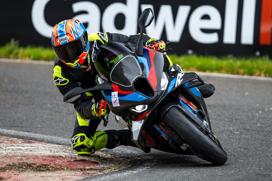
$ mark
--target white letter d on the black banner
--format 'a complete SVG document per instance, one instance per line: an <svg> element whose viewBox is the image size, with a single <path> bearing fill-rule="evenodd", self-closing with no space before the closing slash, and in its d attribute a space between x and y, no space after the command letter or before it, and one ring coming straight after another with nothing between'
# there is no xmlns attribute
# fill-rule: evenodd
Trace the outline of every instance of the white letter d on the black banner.
<svg viewBox="0 0 272 181"><path fill-rule="evenodd" d="M139 0L127 0L127 4L115 2L109 5L102 16L102 29L112 33L125 35L137 34ZM114 21L117 14L125 15L125 27L118 30Z"/></svg>

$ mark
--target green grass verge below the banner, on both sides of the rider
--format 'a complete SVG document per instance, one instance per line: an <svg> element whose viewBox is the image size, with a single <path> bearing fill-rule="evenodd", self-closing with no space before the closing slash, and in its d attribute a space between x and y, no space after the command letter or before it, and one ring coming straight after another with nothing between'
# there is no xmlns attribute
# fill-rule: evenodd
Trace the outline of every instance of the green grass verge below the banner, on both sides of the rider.
<svg viewBox="0 0 272 181"><path fill-rule="evenodd" d="M256 75L272 77L272 61L267 57L237 58L233 56L196 56L169 55L173 63L179 64L184 71L217 72L237 75ZM0 47L0 58L54 61L57 56L52 48L19 46L11 39Z"/></svg>

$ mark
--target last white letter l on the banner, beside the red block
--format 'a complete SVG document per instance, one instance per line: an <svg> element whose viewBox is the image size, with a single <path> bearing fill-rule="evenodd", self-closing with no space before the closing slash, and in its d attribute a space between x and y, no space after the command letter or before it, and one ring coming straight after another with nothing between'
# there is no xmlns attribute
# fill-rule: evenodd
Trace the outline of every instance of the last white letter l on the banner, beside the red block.
<svg viewBox="0 0 272 181"><path fill-rule="evenodd" d="M253 45L254 40L254 17L256 0L244 0L241 44Z"/></svg>

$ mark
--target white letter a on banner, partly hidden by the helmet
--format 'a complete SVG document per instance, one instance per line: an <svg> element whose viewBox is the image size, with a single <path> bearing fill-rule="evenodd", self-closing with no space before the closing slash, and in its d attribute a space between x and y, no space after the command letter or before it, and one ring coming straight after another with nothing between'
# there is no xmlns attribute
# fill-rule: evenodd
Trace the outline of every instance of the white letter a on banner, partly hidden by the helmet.
<svg viewBox="0 0 272 181"><path fill-rule="evenodd" d="M100 31L100 9L93 3L88 1L76 2L72 5L73 12L86 11L85 14L79 14L73 18L79 20L81 23L88 23L86 30L88 33Z"/></svg>

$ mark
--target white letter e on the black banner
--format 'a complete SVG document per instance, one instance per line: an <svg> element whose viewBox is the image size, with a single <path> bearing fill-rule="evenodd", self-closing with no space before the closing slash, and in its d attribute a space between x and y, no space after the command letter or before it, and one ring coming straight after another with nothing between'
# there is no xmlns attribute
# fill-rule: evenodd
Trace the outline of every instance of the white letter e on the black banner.
<svg viewBox="0 0 272 181"><path fill-rule="evenodd" d="M210 19L201 19L204 15L208 15ZM196 8L189 19L189 32L193 39L199 43L210 44L219 42L217 32L204 33L201 29L221 29L221 16L215 7L204 5Z"/></svg>

